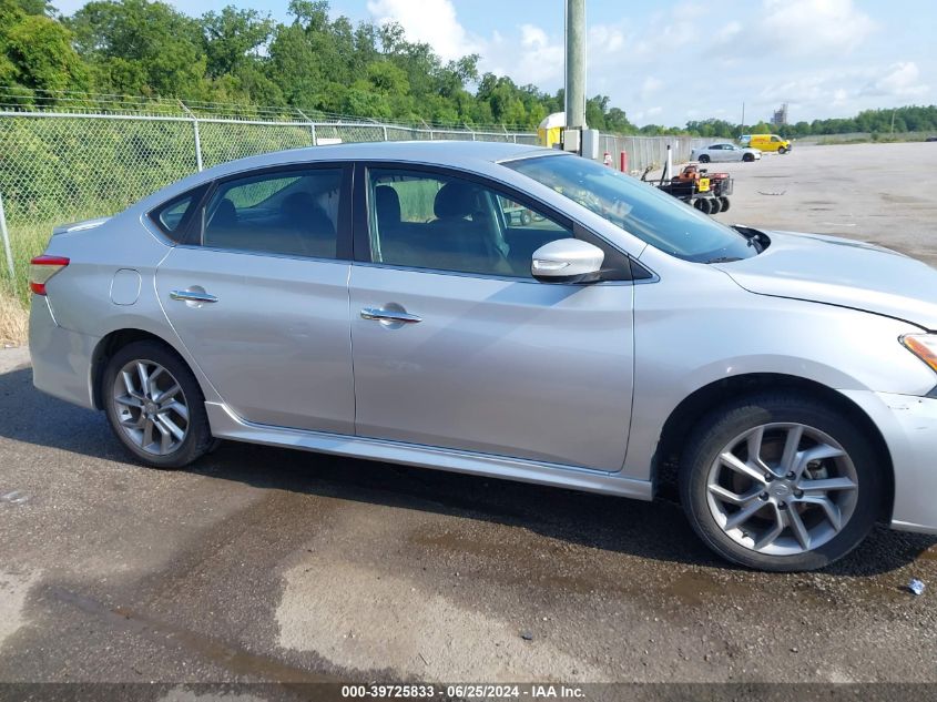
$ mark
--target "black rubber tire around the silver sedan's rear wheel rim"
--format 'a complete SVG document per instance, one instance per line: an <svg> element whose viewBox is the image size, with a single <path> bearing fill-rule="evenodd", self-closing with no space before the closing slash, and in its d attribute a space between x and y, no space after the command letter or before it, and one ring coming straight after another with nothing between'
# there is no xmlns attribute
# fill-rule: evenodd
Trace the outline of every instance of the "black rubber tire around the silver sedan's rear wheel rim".
<svg viewBox="0 0 937 702"><path fill-rule="evenodd" d="M118 403L114 400L113 388L121 369L134 360L146 360L162 366L182 388L185 398L189 410L185 436L177 447L165 455L143 450L131 440L120 424L120 410ZM155 340L128 344L109 359L101 383L101 398L111 429L128 452L136 460L154 468L182 468L217 447L208 426L208 415L205 411L205 397L202 394L202 388L186 363L169 346Z"/></svg>

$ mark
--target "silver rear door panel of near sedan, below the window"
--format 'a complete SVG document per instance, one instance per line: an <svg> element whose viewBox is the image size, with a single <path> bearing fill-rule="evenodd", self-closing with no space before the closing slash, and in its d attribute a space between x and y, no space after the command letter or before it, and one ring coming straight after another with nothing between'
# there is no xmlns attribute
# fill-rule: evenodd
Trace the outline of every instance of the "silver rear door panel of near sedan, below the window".
<svg viewBox="0 0 937 702"><path fill-rule="evenodd" d="M355 433L348 262L176 246L156 274L165 316L249 421ZM173 298L196 291L217 302Z"/></svg>

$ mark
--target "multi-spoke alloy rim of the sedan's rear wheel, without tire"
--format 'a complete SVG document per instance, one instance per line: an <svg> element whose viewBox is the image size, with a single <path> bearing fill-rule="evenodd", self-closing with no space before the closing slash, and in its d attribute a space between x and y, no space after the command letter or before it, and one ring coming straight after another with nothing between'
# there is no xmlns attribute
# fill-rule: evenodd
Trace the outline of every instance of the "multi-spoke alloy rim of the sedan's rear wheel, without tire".
<svg viewBox="0 0 937 702"><path fill-rule="evenodd" d="M124 434L141 450L166 456L189 434L189 404L182 386L152 360L131 360L114 378L114 414Z"/></svg>

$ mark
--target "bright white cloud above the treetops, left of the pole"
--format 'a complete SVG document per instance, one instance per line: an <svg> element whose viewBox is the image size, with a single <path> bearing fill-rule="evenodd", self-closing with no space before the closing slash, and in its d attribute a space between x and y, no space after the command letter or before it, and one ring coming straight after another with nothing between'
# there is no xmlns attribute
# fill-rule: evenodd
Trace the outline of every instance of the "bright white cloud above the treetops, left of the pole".
<svg viewBox="0 0 937 702"><path fill-rule="evenodd" d="M444 61L482 48L459 23L451 0L368 0L367 8L378 23L398 22L409 41L428 43Z"/></svg>

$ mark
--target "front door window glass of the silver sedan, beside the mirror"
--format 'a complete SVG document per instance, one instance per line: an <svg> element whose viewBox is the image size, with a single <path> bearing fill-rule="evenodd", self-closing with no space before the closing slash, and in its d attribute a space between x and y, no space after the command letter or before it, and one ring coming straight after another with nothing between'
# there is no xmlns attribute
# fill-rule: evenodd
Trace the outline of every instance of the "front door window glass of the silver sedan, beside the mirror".
<svg viewBox="0 0 937 702"><path fill-rule="evenodd" d="M448 174L368 170L371 261L531 277L537 248L572 230L507 194Z"/></svg>

